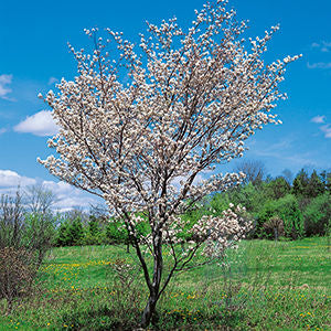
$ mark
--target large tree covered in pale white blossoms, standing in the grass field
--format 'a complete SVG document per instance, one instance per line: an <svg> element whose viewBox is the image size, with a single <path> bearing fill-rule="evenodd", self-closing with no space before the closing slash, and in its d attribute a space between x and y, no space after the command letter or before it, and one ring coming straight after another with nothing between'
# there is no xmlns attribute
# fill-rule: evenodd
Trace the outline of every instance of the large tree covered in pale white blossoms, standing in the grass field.
<svg viewBox="0 0 331 331"><path fill-rule="evenodd" d="M185 242L180 215L204 195L241 182L242 173L199 178L241 157L257 129L279 122L270 114L286 97L277 86L286 64L298 57L265 65L261 56L278 28L246 43L246 23L226 2L195 11L188 30L175 19L148 23L138 46L121 33L107 30L104 41L97 29L86 30L93 53L71 47L77 77L62 79L58 93L45 97L60 127L49 140L57 157L39 161L61 180L102 196L124 220L149 290L142 327L175 271L192 266L196 253L215 256L247 231L241 207L231 205L222 217L200 220ZM136 231L143 220L150 225L146 237ZM172 256L167 273L164 249Z"/></svg>

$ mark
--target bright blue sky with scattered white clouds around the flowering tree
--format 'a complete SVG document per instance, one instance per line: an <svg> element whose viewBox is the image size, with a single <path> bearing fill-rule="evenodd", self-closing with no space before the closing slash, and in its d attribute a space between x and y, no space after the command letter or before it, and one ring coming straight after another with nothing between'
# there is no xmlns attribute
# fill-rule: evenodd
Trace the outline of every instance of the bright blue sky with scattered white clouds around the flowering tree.
<svg viewBox="0 0 331 331"><path fill-rule="evenodd" d="M66 43L89 45L84 28L122 31L131 41L145 21L175 15L188 25L204 1L3 1L0 13L0 192L45 181L62 199L61 207L87 205L92 197L58 183L36 157L45 157L54 130L36 95L54 89L76 67ZM229 0L239 19L249 20L246 36L263 35L280 23L267 61L303 54L291 64L281 89L289 99L277 108L281 126L269 126L248 141L246 158L260 160L268 173L302 167L331 168L331 1ZM225 170L231 170L228 164Z"/></svg>

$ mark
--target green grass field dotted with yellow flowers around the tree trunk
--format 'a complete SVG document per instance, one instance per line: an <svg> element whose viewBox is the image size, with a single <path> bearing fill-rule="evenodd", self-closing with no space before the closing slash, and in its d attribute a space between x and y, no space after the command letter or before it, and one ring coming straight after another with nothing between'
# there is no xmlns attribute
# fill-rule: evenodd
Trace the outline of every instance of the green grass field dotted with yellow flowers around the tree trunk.
<svg viewBox="0 0 331 331"><path fill-rule="evenodd" d="M178 275L151 329L331 330L327 238L246 241L214 264ZM1 314L0 330L132 330L147 291L125 247L54 248L30 297ZM6 301L0 301L4 311Z"/></svg>

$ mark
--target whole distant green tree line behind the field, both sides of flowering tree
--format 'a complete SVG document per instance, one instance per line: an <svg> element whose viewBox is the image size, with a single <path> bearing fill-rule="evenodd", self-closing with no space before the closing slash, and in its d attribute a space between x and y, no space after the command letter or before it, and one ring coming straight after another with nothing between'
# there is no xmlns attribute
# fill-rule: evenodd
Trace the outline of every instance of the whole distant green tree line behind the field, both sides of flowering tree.
<svg viewBox="0 0 331 331"><path fill-rule="evenodd" d="M254 221L250 237L297 239L305 236L322 236L330 231L331 220L331 172L310 173L305 169L296 175L289 170L276 178L266 175L259 161L239 163L236 171L245 172L242 185L220 192L195 204L195 209L182 217L189 221L188 228L203 215L221 215L229 203L246 207ZM139 232L148 233L149 224L140 223ZM186 236L190 239L190 236ZM89 214L61 217L54 245L104 245L129 244L130 237L120 220L109 220L106 211L92 209Z"/></svg>

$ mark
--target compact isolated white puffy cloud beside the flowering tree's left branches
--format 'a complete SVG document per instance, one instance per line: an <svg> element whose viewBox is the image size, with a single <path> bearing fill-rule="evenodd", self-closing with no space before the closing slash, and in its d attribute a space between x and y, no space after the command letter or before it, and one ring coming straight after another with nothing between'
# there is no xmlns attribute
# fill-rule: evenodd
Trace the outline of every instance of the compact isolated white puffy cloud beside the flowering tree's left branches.
<svg viewBox="0 0 331 331"><path fill-rule="evenodd" d="M14 127L17 132L33 134L45 137L56 135L58 128L54 122L51 111L41 110L32 116L26 117L23 121Z"/></svg>

